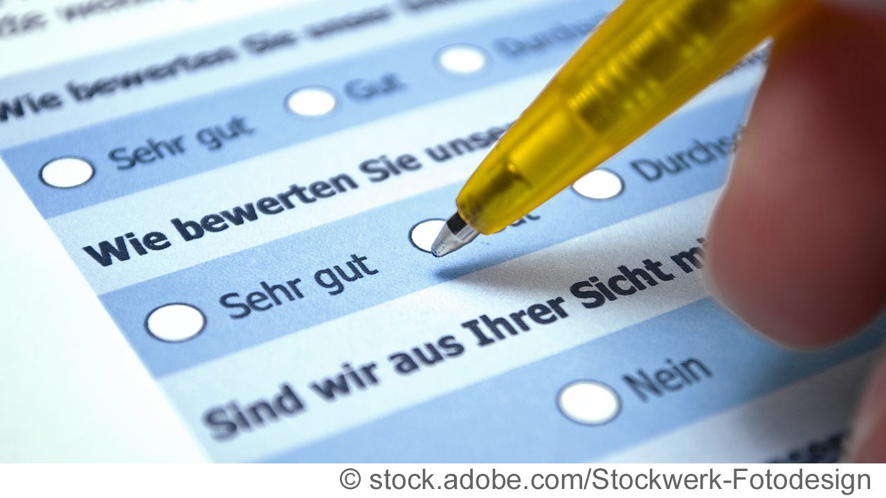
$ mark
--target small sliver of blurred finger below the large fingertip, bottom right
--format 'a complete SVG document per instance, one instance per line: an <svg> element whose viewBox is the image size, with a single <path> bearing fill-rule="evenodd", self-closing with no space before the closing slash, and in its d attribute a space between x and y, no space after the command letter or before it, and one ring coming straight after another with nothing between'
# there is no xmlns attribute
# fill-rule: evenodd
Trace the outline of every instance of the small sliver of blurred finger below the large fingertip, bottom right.
<svg viewBox="0 0 886 498"><path fill-rule="evenodd" d="M847 456L851 462L886 462L886 354L862 395Z"/></svg>

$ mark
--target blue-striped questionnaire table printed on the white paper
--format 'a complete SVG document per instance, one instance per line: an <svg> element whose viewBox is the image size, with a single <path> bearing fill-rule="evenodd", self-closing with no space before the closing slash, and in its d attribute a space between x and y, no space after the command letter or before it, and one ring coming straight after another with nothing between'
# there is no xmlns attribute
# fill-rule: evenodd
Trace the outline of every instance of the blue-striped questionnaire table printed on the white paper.
<svg viewBox="0 0 886 498"><path fill-rule="evenodd" d="M802 354L703 287L765 50L427 253L615 4L253 13L7 75L0 156L215 460L834 460L883 324Z"/></svg>

